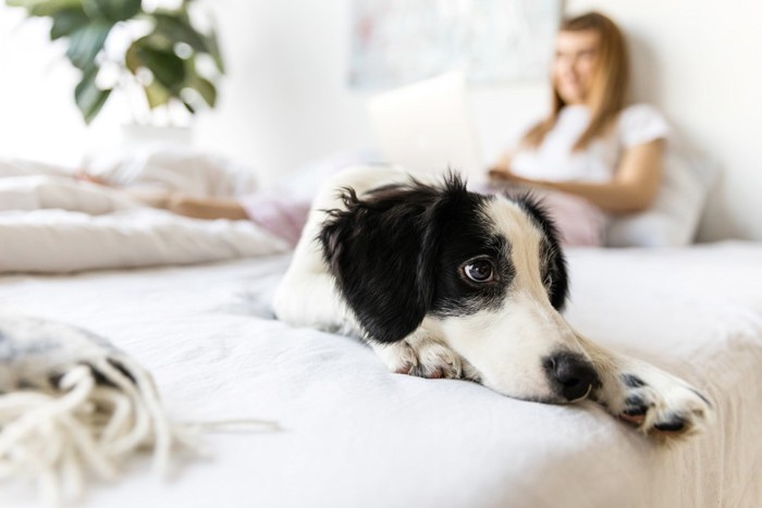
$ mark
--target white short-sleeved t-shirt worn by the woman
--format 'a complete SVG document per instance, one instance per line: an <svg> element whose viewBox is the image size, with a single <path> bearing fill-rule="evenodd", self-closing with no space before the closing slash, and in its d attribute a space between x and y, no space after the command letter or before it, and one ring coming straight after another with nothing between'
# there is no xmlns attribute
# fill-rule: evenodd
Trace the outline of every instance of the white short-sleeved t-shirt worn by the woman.
<svg viewBox="0 0 762 508"><path fill-rule="evenodd" d="M561 110L555 126L537 149L521 149L511 160L511 171L527 178L603 183L614 177L624 149L668 139L669 125L649 104L625 108L615 128L594 139L587 148L573 151L574 144L590 122L586 106L567 106Z"/></svg>

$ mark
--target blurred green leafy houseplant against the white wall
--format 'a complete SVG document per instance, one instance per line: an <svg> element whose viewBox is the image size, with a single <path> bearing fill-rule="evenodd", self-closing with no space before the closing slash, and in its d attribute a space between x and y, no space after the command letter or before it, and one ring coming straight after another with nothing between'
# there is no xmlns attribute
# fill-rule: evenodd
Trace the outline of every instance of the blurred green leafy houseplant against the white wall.
<svg viewBox="0 0 762 508"><path fill-rule="evenodd" d="M224 63L213 28L201 29L193 16L193 0L173 9L147 9L142 0L5 3L52 21L50 39L64 41L66 59L81 71L74 100L88 124L118 90L130 96L135 124L155 123L160 110L194 114L217 102Z"/></svg>

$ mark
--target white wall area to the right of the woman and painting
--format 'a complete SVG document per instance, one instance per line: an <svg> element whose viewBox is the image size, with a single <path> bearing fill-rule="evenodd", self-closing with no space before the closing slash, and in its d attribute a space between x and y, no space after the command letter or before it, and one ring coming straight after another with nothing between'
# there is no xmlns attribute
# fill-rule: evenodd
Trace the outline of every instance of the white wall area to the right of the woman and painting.
<svg viewBox="0 0 762 508"><path fill-rule="evenodd" d="M762 2L570 0L624 26L635 97L659 106L723 175L700 238L762 240Z"/></svg>

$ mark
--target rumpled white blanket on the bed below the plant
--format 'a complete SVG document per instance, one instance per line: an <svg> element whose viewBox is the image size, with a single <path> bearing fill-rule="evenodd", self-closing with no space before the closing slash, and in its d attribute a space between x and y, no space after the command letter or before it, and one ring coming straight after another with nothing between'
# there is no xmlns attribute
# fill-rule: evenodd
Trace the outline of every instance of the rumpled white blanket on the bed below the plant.
<svg viewBox="0 0 762 508"><path fill-rule="evenodd" d="M181 179L184 169L174 168L175 179ZM201 176L212 173L209 168L199 164L188 171L188 186L200 186ZM216 174L229 177L216 181L217 190L253 185L250 179L244 185L238 173L218 170ZM149 165L145 171L167 173L169 169ZM72 170L0 160L0 273L188 264L290 248L255 222L180 216L143 206L119 188L81 182L73 175Z"/></svg>

